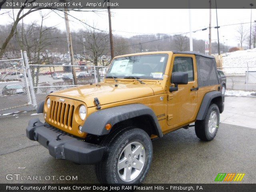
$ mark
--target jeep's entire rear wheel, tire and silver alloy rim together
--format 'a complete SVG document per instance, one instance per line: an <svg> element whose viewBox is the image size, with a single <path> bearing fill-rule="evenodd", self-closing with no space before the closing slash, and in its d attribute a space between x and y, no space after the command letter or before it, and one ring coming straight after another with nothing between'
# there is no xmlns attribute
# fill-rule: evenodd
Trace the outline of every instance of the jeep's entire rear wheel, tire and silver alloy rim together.
<svg viewBox="0 0 256 192"><path fill-rule="evenodd" d="M200 140L213 140L218 132L220 124L220 111L216 104L211 104L206 112L204 120L195 122L196 136Z"/></svg>

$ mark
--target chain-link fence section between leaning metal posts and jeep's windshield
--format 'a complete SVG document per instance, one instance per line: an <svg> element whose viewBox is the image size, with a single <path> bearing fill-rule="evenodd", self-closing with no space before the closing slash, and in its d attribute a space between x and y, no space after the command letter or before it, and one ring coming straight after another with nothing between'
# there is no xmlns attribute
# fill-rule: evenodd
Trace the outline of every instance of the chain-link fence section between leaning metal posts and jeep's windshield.
<svg viewBox="0 0 256 192"><path fill-rule="evenodd" d="M106 66L30 65L36 102L42 102L52 91L102 82Z"/></svg>

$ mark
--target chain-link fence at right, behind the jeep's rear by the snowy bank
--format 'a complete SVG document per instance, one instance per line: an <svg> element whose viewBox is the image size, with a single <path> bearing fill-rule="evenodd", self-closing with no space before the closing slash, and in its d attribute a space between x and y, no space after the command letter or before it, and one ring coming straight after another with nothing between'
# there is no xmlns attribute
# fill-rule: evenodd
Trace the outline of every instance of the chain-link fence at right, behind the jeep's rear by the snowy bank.
<svg viewBox="0 0 256 192"><path fill-rule="evenodd" d="M221 67L230 90L256 91L256 67Z"/></svg>

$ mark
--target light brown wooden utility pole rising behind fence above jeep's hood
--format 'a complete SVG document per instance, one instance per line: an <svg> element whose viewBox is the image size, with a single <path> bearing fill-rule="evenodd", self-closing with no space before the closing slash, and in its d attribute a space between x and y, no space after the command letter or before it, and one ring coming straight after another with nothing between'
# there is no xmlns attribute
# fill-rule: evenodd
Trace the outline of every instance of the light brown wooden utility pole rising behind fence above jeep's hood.
<svg viewBox="0 0 256 192"><path fill-rule="evenodd" d="M66 6L64 8L64 15L65 15L65 22L66 22L67 38L68 38L68 50L69 50L69 53L70 53L71 65L72 65L71 69L72 69L72 74L73 74L73 80L74 80L74 85L77 85L76 69L74 67L74 65L75 65L74 52L73 52L72 38L71 38L71 34L70 34L70 27L69 27L69 20L68 20L68 9L66 8Z"/></svg>

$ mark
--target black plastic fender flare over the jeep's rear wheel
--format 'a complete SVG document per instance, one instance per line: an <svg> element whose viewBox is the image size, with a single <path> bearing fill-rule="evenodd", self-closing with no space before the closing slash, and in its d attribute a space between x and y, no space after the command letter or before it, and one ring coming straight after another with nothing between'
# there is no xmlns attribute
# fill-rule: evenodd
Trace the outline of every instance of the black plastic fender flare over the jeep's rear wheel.
<svg viewBox="0 0 256 192"><path fill-rule="evenodd" d="M214 98L218 98L216 104L218 105L220 113L223 112L223 110L224 110L224 103L223 103L224 98L222 96L222 93L219 92L219 91L211 91L211 92L208 92L204 95L204 98L202 100L200 109L199 109L198 114L196 116L196 120L204 120L204 118L206 116L206 112L207 112L207 110L210 106L210 103L212 102L212 100Z"/></svg>

